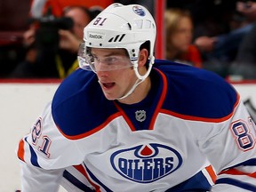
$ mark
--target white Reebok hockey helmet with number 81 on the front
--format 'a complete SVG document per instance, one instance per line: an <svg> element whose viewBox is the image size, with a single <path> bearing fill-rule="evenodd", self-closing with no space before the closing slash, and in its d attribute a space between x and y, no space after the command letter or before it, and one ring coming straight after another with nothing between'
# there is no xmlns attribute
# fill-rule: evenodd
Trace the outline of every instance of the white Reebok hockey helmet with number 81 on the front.
<svg viewBox="0 0 256 192"><path fill-rule="evenodd" d="M148 73L140 76L137 69L138 54L140 45L147 41L150 44ZM155 41L156 23L145 7L139 4L111 4L84 28L84 44L78 53L79 66L88 69L89 64L83 60L84 57L79 59L79 55L86 55L88 48L124 48L136 76L143 81L155 60Z"/></svg>

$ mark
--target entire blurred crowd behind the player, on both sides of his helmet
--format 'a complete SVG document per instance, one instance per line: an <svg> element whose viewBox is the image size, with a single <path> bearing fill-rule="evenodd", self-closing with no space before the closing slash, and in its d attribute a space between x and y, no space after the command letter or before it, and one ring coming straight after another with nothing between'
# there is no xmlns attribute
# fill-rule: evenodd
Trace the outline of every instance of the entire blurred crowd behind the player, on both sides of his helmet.
<svg viewBox="0 0 256 192"><path fill-rule="evenodd" d="M45 5L40 10L38 0L26 1L28 22L12 44L3 41L10 29L0 27L0 78L65 78L78 67L76 53L84 26L102 8L113 2L143 4L154 15L155 4L153 0L101 4L67 0L56 10L60 0L41 0ZM256 79L256 2L166 1L163 15L164 59L212 70L231 80ZM1 20L0 26L4 26Z"/></svg>

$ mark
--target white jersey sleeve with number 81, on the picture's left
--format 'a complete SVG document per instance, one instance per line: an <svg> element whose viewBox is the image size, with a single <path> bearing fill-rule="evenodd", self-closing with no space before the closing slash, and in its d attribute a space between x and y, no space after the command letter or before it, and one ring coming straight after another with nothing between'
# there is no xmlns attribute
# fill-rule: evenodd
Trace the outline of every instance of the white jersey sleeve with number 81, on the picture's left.
<svg viewBox="0 0 256 192"><path fill-rule="evenodd" d="M22 191L58 191L64 169L81 164L84 159L76 141L67 140L54 124L51 103L20 140L17 155L21 161Z"/></svg>

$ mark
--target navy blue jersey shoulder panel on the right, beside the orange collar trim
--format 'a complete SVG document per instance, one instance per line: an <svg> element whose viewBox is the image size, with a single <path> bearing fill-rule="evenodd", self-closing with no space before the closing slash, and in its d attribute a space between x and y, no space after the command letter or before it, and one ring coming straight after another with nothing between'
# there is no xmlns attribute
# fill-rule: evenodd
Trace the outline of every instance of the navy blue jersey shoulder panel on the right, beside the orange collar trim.
<svg viewBox="0 0 256 192"><path fill-rule="evenodd" d="M239 101L235 88L217 74L186 64L156 60L167 78L164 108L184 116L223 119Z"/></svg>

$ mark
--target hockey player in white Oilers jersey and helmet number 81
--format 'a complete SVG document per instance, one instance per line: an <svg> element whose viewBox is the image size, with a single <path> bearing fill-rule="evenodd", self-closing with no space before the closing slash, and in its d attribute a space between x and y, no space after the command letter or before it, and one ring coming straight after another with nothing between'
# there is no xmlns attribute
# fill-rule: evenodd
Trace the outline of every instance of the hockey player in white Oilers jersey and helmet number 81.
<svg viewBox="0 0 256 192"><path fill-rule="evenodd" d="M256 191L255 124L204 69L155 60L156 23L111 4L84 28L80 68L20 140L21 191Z"/></svg>

